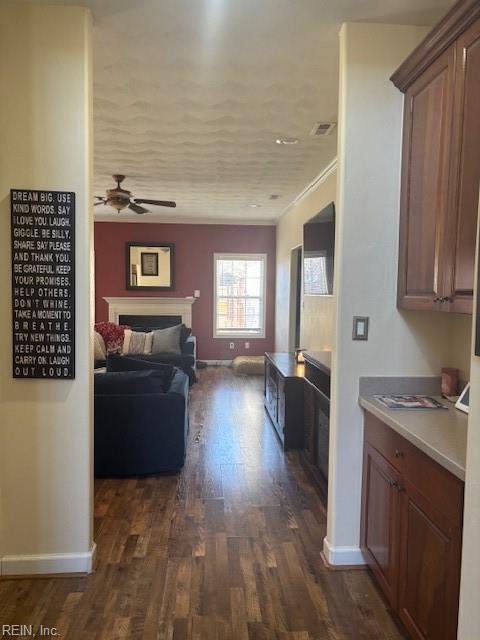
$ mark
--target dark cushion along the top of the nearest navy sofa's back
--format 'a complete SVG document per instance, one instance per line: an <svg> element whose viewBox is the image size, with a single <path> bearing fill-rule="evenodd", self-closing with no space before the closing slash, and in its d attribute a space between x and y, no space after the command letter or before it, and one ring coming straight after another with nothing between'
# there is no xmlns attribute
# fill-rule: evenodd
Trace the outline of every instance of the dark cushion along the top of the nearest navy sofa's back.
<svg viewBox="0 0 480 640"><path fill-rule="evenodd" d="M159 369L107 371L94 376L95 395L163 393L164 382L164 374Z"/></svg>

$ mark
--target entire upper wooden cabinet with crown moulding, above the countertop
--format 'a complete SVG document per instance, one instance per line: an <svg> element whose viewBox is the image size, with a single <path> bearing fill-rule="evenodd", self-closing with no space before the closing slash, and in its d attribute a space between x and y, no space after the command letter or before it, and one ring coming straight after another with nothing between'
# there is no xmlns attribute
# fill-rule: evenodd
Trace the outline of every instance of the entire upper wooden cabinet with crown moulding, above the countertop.
<svg viewBox="0 0 480 640"><path fill-rule="evenodd" d="M480 186L480 2L393 74L405 93L398 306L472 313Z"/></svg>

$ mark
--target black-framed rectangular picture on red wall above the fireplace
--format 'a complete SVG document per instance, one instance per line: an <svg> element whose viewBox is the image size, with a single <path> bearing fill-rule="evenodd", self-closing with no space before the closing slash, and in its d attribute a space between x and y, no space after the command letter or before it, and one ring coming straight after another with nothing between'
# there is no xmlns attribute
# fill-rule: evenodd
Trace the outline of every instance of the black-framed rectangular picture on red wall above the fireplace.
<svg viewBox="0 0 480 640"><path fill-rule="evenodd" d="M175 245L172 243L127 242L127 289L172 291L174 255Z"/></svg>

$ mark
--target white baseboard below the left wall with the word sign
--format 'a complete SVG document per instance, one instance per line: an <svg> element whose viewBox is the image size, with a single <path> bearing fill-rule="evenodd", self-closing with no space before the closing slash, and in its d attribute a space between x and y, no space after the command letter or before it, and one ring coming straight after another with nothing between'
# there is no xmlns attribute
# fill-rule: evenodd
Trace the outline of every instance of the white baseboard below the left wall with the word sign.
<svg viewBox="0 0 480 640"><path fill-rule="evenodd" d="M86 553L50 553L41 555L4 556L0 558L1 576L91 573L97 546Z"/></svg>

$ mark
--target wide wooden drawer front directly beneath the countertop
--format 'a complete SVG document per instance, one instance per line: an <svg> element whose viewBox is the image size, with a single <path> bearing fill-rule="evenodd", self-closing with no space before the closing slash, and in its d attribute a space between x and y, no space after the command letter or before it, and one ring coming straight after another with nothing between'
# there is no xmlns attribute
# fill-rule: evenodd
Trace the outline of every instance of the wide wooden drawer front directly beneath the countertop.
<svg viewBox="0 0 480 640"><path fill-rule="evenodd" d="M401 472L434 509L461 526L464 484L381 420L366 412L365 440Z"/></svg>

